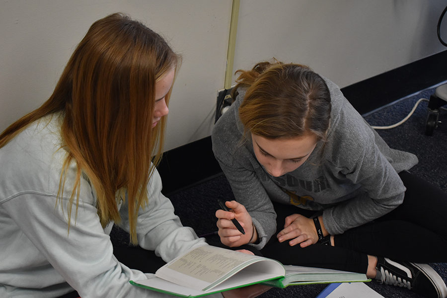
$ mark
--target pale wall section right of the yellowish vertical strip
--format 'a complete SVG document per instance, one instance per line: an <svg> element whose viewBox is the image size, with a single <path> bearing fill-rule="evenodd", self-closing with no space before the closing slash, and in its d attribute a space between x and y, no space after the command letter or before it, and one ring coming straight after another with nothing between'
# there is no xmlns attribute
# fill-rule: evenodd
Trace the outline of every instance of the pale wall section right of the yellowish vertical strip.
<svg viewBox="0 0 447 298"><path fill-rule="evenodd" d="M234 70L275 57L307 65L344 87L446 50L436 33L446 5L445 0L241 0ZM447 15L443 28L447 31Z"/></svg>

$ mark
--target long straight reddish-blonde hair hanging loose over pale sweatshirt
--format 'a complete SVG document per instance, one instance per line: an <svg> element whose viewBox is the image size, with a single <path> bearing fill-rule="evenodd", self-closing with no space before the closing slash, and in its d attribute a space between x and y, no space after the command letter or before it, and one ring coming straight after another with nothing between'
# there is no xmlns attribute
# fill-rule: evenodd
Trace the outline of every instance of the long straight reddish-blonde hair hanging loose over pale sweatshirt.
<svg viewBox="0 0 447 298"><path fill-rule="evenodd" d="M69 226L75 197L76 210L78 206L80 178L86 175L96 191L102 226L121 220L115 195L127 191L131 242L137 243L138 211L148 204L146 186L161 158L166 125L162 117L152 128L155 83L179 64L179 55L142 23L120 13L102 18L77 45L51 97L6 128L0 148L32 122L61 112L68 154L60 198L69 164L77 164Z"/></svg>

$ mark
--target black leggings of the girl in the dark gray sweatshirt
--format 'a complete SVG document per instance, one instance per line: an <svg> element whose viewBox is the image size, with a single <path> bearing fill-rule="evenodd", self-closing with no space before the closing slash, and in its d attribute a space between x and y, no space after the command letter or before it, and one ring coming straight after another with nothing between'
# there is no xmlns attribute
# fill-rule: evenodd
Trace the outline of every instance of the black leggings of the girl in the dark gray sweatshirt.
<svg viewBox="0 0 447 298"><path fill-rule="evenodd" d="M279 243L276 234L261 250L284 264L324 267L366 273L367 255L418 263L447 262L447 194L404 171L404 202L368 224L335 235L335 247L313 244L305 248ZM293 213L311 217L314 212L274 203L277 232Z"/></svg>

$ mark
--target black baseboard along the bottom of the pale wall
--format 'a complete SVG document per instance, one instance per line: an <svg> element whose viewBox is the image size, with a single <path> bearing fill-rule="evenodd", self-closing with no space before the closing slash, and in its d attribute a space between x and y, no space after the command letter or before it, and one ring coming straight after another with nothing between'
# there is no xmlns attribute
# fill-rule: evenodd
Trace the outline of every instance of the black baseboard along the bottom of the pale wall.
<svg viewBox="0 0 447 298"><path fill-rule="evenodd" d="M360 114L366 114L446 80L447 51L443 51L341 90ZM166 151L157 169L166 196L222 174L211 137Z"/></svg>

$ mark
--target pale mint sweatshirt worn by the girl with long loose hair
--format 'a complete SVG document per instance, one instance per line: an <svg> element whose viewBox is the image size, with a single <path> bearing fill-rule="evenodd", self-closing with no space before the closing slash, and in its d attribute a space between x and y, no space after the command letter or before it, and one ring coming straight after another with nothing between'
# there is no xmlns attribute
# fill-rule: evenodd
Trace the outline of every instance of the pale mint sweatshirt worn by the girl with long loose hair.
<svg viewBox="0 0 447 298"><path fill-rule="evenodd" d="M153 275L115 258L109 237L112 225L101 226L95 191L83 177L68 232L68 198L77 168L71 164L64 197L56 205L65 152L58 150L58 119L46 123L32 124L0 149L0 297L50 298L73 289L82 298L171 297L129 283ZM140 210L137 224L141 247L168 262L192 247L207 245L192 228L182 226L160 192L157 171L147 190L149 205ZM129 231L127 204L119 202L120 226Z"/></svg>

